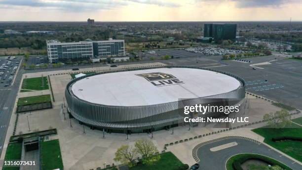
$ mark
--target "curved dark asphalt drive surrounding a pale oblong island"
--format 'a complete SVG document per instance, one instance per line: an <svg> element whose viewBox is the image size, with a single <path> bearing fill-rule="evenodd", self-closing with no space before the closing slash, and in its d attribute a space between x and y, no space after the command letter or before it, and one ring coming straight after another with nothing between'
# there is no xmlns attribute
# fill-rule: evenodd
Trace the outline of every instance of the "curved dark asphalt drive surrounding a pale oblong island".
<svg viewBox="0 0 302 170"><path fill-rule="evenodd" d="M223 144L236 142L238 145L231 146L219 151L212 152L210 148ZM293 170L302 170L302 166L293 160L281 155L264 144L258 144L242 138L229 138L212 142L201 146L197 150L200 165L198 170L225 170L227 159L240 153L261 154L282 162Z"/></svg>

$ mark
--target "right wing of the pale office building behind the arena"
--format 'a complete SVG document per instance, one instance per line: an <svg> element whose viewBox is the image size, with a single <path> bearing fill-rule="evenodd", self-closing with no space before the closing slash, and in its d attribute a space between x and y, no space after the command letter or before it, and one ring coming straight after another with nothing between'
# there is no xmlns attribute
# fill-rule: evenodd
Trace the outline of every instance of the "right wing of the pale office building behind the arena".
<svg viewBox="0 0 302 170"><path fill-rule="evenodd" d="M124 40L93 41L93 55L102 56L123 56L125 55Z"/></svg>

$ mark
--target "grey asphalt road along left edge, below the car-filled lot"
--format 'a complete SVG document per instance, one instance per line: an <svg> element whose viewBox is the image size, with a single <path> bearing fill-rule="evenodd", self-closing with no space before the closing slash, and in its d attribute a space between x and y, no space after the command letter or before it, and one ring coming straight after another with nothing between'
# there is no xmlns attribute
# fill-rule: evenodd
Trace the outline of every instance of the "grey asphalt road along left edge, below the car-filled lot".
<svg viewBox="0 0 302 170"><path fill-rule="evenodd" d="M11 118L12 110L14 107L23 72L23 69L18 70L15 81L11 86L0 86L0 155L2 153L6 132L9 126L9 121Z"/></svg>

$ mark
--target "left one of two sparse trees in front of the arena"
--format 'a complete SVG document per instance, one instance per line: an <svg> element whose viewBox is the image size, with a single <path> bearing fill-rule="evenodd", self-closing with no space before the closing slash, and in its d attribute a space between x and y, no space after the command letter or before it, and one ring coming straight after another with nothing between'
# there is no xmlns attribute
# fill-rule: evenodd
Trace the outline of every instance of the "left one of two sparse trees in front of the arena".
<svg viewBox="0 0 302 170"><path fill-rule="evenodd" d="M129 145L121 145L115 152L114 161L121 162L122 164L128 164L129 167L134 166L133 160L138 156L138 152L135 148Z"/></svg>

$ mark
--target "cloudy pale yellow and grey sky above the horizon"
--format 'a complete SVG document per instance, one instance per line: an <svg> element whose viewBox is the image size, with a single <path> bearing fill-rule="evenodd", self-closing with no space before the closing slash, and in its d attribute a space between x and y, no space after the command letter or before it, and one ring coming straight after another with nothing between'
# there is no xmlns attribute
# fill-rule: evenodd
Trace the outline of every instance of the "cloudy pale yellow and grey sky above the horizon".
<svg viewBox="0 0 302 170"><path fill-rule="evenodd" d="M0 0L0 21L302 21L302 0Z"/></svg>

